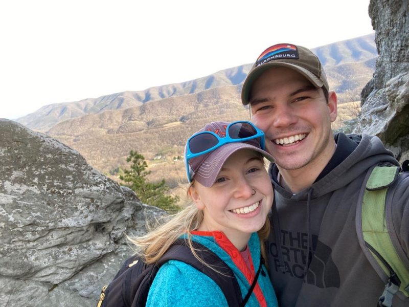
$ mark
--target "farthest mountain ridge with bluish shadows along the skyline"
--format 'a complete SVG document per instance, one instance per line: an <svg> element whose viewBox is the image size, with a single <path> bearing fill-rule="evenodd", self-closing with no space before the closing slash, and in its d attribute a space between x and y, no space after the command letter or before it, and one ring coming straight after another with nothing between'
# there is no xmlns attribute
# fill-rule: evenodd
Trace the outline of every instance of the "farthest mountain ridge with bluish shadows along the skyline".
<svg viewBox="0 0 409 307"><path fill-rule="evenodd" d="M325 65L328 82L331 89L338 93L339 101L359 100L362 87L374 72L377 57L374 34L335 42L313 51ZM146 102L197 94L220 86L240 86L250 68L251 63L183 83L151 87L145 91L127 91L77 102L46 105L17 121L35 130L48 131L57 123L87 114L140 106ZM236 99L240 99L239 93Z"/></svg>

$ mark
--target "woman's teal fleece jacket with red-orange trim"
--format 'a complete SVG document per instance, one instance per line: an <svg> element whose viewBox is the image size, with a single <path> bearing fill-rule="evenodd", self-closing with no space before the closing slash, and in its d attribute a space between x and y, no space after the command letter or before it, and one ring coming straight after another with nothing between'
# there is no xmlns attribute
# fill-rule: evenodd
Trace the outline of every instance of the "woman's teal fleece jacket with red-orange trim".
<svg viewBox="0 0 409 307"><path fill-rule="evenodd" d="M216 253L233 271L239 283L242 297L247 294L260 264L260 243L257 233L253 233L248 242L252 270L230 240L220 231L194 231L192 239ZM257 286L248 300L247 307L276 307L277 298L272 289L266 268L262 265ZM164 264L149 290L147 307L215 307L228 306L223 292L207 275L190 265L177 260Z"/></svg>

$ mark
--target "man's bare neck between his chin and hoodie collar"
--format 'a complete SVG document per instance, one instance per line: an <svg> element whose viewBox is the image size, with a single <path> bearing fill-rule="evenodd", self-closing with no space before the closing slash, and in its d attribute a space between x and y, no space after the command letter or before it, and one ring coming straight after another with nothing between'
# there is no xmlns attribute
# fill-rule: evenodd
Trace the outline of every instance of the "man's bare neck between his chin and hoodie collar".
<svg viewBox="0 0 409 307"><path fill-rule="evenodd" d="M332 139L333 140L333 139ZM287 170L277 165L280 171L280 184L286 189L296 194L310 187L321 171L330 161L336 149L335 142L331 142L328 153L322 157L310 161L307 165L299 169Z"/></svg>

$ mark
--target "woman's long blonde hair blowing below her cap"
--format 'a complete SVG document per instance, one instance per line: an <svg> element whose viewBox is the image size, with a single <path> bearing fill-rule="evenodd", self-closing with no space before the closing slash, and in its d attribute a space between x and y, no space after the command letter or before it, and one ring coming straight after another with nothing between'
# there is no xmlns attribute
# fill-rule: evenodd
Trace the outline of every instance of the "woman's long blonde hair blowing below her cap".
<svg viewBox="0 0 409 307"><path fill-rule="evenodd" d="M188 196L190 196L189 190L193 187L194 183L195 181L193 180L189 185ZM179 213L160 218L154 226L148 223L148 233L146 235L137 238L128 237L128 239L137 247L135 250L147 264L154 264L165 254L176 239L185 234L186 242L193 255L204 265L210 267L197 255L192 244L191 231L198 229L202 221L203 211L199 210L195 204L191 204ZM270 222L267 216L263 227L257 232L260 239L261 255L264 258L265 264L267 264L267 257L264 243L269 232Z"/></svg>

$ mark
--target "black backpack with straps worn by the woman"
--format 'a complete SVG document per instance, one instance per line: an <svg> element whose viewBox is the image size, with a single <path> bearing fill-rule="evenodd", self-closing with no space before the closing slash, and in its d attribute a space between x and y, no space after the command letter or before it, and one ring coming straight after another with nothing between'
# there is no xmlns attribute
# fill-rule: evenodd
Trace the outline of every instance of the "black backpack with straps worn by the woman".
<svg viewBox="0 0 409 307"><path fill-rule="evenodd" d="M256 286L260 267L245 298L233 271L207 247L192 242L198 256L217 272L202 264L193 254L184 239L177 239L156 264L146 264L134 255L128 258L117 275L104 286L97 307L142 307L145 306L150 286L159 268L169 260L179 260L212 278L223 292L229 306L244 306ZM262 259L262 258L261 258Z"/></svg>

